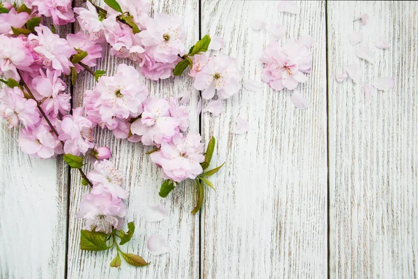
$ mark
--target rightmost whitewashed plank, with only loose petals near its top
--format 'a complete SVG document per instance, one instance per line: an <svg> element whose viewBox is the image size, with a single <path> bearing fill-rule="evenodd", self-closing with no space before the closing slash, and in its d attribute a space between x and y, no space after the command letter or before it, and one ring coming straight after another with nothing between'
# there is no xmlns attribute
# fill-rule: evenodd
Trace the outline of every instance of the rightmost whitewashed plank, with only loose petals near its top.
<svg viewBox="0 0 418 279"><path fill-rule="evenodd" d="M416 278L418 264L417 1L330 1L328 11L331 278ZM361 27L353 18L369 13ZM361 29L364 41L348 36ZM378 36L390 48L374 46ZM371 48L376 63L355 56ZM362 82L335 81L350 63ZM394 77L364 104L363 85Z"/></svg>

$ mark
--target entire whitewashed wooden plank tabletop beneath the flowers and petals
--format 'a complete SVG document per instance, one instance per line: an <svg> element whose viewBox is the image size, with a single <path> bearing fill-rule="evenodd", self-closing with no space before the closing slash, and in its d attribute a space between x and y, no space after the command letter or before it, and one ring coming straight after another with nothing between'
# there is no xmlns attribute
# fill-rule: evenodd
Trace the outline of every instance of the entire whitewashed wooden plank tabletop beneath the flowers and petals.
<svg viewBox="0 0 418 279"><path fill-rule="evenodd" d="M299 3L300 15L290 15L277 12L277 1L153 1L153 12L183 15L187 45L206 33L222 36L224 52L236 57L245 78L261 80L258 59L272 40L267 31L251 29L256 18L283 24L286 39L308 33L315 44L312 73L299 86L307 110L296 110L288 91L263 84L224 102L221 116L199 118L191 78L146 82L151 96L192 90L190 130L219 142L212 165L226 161L226 167L213 178L217 192L206 190L196 215L189 213L193 184L161 199L162 180L144 154L148 148L98 131L98 143L109 146L126 171L126 220L137 225L127 250L150 261L145 268L123 264L119 271L109 267L114 251L79 250L82 221L74 213L88 187L63 160L22 153L17 131L2 121L0 278L416 278L418 2ZM353 22L362 13L371 17L364 27ZM360 28L361 44L376 56L373 65L360 61L348 42ZM374 47L380 35L389 38L389 50ZM113 74L118 63L130 63L108 50L99 69ZM335 73L351 63L362 69L362 82L337 83ZM378 91L365 105L362 86L381 76L394 77L394 89ZM79 77L73 107L94 84L87 73ZM231 133L238 115L249 119L245 135ZM160 202L170 206L169 218L146 224L144 205ZM155 233L167 237L171 252L149 254L146 240Z"/></svg>

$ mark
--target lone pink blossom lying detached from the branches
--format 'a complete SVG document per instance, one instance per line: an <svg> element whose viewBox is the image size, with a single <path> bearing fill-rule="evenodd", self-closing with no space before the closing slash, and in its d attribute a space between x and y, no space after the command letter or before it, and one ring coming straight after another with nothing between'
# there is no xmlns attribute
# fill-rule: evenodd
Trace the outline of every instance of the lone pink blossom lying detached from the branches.
<svg viewBox="0 0 418 279"><path fill-rule="evenodd" d="M293 90L299 82L306 82L303 73L310 73L312 54L301 43L291 40L284 47L279 43L270 43L260 59L265 63L261 75L263 82L268 83L274 90L285 87Z"/></svg>

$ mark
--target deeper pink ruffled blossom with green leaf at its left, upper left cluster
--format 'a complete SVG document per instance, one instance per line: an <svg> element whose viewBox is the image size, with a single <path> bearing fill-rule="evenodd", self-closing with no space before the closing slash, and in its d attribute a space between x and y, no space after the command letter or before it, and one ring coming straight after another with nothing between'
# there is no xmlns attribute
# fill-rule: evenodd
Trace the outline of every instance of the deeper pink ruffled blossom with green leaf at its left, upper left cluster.
<svg viewBox="0 0 418 279"><path fill-rule="evenodd" d="M87 56L82 59L82 63L86 64L90 68L95 67L97 59L102 58L102 46L88 38L88 35L82 32L67 35L68 43L79 50L87 52ZM84 68L75 64L77 73L80 73Z"/></svg>

